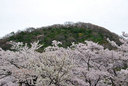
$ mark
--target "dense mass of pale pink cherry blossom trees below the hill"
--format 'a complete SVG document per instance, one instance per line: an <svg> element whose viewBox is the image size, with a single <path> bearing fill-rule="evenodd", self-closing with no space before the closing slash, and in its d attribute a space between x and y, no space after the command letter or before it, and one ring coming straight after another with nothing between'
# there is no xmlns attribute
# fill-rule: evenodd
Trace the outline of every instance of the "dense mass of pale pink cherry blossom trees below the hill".
<svg viewBox="0 0 128 86"><path fill-rule="evenodd" d="M54 40L42 53L38 42L10 42L13 51L0 49L0 86L128 86L127 38L123 32L122 45L107 39L115 50L92 41L63 48Z"/></svg>

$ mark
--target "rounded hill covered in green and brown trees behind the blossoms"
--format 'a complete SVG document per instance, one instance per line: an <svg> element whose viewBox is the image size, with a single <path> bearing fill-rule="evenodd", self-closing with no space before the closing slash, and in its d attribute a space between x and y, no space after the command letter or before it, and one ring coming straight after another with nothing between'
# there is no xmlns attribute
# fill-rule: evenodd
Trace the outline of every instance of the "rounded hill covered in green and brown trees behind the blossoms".
<svg viewBox="0 0 128 86"><path fill-rule="evenodd" d="M63 47L70 46L72 42L79 43L91 40L112 49L106 40L107 38L120 45L119 36L103 27L83 22L67 22L41 28L27 28L16 33L12 32L0 39L0 47L4 50L10 49L9 41L30 44L39 40L40 44L43 44L43 47L40 49L42 51L45 47L51 45L53 40L62 42Z"/></svg>

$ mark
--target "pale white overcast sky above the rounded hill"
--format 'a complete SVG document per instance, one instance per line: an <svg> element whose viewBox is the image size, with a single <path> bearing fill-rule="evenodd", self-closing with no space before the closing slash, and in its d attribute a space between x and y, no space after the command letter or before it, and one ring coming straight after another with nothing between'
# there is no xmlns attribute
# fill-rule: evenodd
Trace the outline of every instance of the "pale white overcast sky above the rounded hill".
<svg viewBox="0 0 128 86"><path fill-rule="evenodd" d="M0 37L28 27L86 22L128 32L128 0L0 0Z"/></svg>

